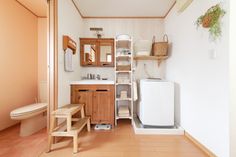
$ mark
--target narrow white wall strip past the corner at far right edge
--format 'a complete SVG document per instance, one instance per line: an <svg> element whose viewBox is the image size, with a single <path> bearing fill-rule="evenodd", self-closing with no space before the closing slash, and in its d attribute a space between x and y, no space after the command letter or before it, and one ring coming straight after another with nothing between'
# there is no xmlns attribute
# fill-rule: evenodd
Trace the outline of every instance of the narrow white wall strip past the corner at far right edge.
<svg viewBox="0 0 236 157"><path fill-rule="evenodd" d="M230 157L236 156L236 1L230 1Z"/></svg>

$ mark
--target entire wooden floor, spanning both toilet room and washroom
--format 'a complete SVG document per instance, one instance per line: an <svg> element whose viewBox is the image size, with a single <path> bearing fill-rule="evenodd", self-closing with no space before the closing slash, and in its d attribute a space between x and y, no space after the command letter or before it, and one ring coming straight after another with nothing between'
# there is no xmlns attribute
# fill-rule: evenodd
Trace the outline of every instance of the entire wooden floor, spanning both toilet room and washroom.
<svg viewBox="0 0 236 157"><path fill-rule="evenodd" d="M72 141L65 139L45 153L46 129L19 137L19 125L0 132L0 157L206 157L184 136L135 135L129 122L112 131L83 132L79 153L72 153Z"/></svg>

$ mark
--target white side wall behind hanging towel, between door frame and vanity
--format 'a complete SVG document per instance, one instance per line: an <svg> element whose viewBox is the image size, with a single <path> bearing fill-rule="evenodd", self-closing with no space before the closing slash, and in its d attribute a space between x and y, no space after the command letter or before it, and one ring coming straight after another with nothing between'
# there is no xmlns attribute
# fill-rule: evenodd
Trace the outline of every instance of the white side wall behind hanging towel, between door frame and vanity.
<svg viewBox="0 0 236 157"><path fill-rule="evenodd" d="M70 82L80 78L79 37L83 34L83 20L71 0L58 1L58 105L70 103ZM73 56L74 72L64 71L62 36L69 35L77 42Z"/></svg>

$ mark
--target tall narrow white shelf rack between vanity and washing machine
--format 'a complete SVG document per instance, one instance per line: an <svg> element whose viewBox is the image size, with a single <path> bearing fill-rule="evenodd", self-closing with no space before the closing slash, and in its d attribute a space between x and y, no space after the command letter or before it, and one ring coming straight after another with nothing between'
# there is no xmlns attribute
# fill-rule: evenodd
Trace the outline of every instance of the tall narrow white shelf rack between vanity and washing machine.
<svg viewBox="0 0 236 157"><path fill-rule="evenodd" d="M115 125L117 125L117 121L120 119L130 119L133 122L132 65L132 38L128 35L119 35L115 40ZM126 81L122 82L122 77L127 78ZM121 97L121 91L127 91L127 97ZM121 109L121 106L128 107L129 114L125 116L121 114L119 115L119 109Z"/></svg>

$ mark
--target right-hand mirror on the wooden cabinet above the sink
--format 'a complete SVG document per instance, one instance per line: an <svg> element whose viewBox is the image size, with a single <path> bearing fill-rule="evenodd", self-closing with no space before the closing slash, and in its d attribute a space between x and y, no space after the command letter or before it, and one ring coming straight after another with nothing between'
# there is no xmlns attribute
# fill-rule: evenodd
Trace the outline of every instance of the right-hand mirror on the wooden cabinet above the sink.
<svg viewBox="0 0 236 157"><path fill-rule="evenodd" d="M112 46L100 46L100 62L112 62Z"/></svg>

